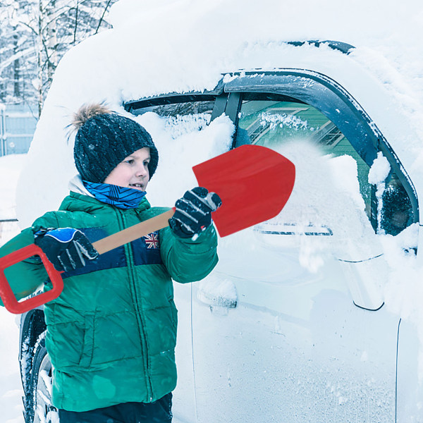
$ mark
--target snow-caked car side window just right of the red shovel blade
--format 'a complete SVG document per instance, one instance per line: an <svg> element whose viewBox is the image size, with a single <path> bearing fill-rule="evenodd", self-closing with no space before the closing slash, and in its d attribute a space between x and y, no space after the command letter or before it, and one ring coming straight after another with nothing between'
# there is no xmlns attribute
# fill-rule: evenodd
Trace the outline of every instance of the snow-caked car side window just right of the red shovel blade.
<svg viewBox="0 0 423 423"><path fill-rule="evenodd" d="M355 225L360 233L374 233L369 166L326 116L307 104L247 101L239 126L237 137L275 149L295 164L290 200L268 226L284 233L345 235L345 227L351 231Z"/></svg>

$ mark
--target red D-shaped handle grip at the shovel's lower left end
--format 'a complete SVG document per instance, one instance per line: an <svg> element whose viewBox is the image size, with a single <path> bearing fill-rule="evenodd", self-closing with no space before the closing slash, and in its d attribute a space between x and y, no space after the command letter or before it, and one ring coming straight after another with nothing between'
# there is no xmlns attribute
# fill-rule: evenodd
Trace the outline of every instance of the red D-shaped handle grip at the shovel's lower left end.
<svg viewBox="0 0 423 423"><path fill-rule="evenodd" d="M49 275L50 281L53 284L53 289L36 295L32 298L27 298L27 300L23 300L18 302L16 300L15 295L13 294L12 288L9 285L6 276L4 274L4 269L7 267L13 266L18 262L22 262L22 260L27 259L28 257L32 257L34 255L38 255L44 264L44 267L47 270L47 274ZM49 262L47 256L44 254L41 248L37 247L35 244L28 245L27 247L20 248L20 250L11 252L11 254L7 255L6 257L0 258L0 297L3 300L4 307L14 314L20 314L28 312L30 309L34 309L39 307L40 305L45 304L55 298L59 297L63 290L63 279L61 278L60 272L54 269L53 264Z"/></svg>

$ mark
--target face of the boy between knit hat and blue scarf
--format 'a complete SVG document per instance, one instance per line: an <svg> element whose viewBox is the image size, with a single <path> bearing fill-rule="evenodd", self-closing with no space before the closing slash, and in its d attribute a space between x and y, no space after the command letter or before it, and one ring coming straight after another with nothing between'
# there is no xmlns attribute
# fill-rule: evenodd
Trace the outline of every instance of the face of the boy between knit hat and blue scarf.
<svg viewBox="0 0 423 423"><path fill-rule="evenodd" d="M150 161L149 148L138 149L125 157L116 168L111 171L104 183L118 185L125 188L145 191L149 181L148 164Z"/></svg>

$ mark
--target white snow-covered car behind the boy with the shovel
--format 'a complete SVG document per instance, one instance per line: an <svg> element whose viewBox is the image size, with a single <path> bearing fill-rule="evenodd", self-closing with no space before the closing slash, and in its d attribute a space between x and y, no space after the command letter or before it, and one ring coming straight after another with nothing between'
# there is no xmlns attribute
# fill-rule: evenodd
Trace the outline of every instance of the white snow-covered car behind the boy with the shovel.
<svg viewBox="0 0 423 423"><path fill-rule="evenodd" d="M296 168L281 214L220 238L212 274L175 284L173 415L184 423L422 421L417 328L386 305L390 275L423 248L421 187L401 143L415 135L389 109L383 84L352 59L352 45L278 48L291 55L286 66L233 68L208 90L121 104L152 134L164 167L186 168L174 178L159 168L151 185L166 192L153 204L195 184L190 166L241 145L275 149ZM54 422L45 331L42 307L21 316L26 423Z"/></svg>

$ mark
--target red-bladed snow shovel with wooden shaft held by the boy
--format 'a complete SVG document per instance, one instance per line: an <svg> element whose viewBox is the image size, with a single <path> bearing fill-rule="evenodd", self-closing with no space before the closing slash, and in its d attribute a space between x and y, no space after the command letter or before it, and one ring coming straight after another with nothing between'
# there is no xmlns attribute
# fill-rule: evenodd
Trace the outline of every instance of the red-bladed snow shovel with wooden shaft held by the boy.
<svg viewBox="0 0 423 423"><path fill-rule="evenodd" d="M192 170L199 186L216 192L221 197L222 206L213 213L213 221L221 237L276 216L288 201L295 182L295 166L291 161L274 150L257 145L235 148L197 164ZM174 212L174 208L170 209L92 245L99 254L113 250L165 228ZM34 255L42 259L53 288L18 302L8 284L4 269ZM54 269L37 245L28 245L0 258L0 297L9 312L27 312L59 297L62 290L61 272Z"/></svg>

